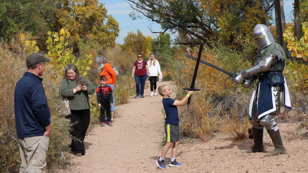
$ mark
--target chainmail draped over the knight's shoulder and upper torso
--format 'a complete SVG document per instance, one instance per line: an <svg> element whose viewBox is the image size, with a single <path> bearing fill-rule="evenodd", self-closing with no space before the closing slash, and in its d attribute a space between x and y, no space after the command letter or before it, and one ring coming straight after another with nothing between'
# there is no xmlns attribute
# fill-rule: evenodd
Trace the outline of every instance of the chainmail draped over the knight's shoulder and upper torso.
<svg viewBox="0 0 308 173"><path fill-rule="evenodd" d="M286 60L286 53L283 50L282 46L277 43L272 43L267 46L265 49L262 49L260 53L257 55L256 62L254 65L258 65L260 61L264 60L266 56L275 55L277 58L275 59L274 63L271 65L269 71L283 71L285 68L285 60Z"/></svg>

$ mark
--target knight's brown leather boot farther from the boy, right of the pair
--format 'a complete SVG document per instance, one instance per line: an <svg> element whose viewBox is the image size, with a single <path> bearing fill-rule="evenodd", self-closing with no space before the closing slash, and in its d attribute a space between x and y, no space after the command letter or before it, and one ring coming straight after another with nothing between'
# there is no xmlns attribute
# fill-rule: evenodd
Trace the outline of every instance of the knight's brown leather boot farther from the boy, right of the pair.
<svg viewBox="0 0 308 173"><path fill-rule="evenodd" d="M272 139L272 142L274 144L274 150L270 151L264 157L267 156L274 156L279 154L284 154L287 152L286 148L282 144L281 136L279 130L268 130L267 133L270 135L270 138Z"/></svg>

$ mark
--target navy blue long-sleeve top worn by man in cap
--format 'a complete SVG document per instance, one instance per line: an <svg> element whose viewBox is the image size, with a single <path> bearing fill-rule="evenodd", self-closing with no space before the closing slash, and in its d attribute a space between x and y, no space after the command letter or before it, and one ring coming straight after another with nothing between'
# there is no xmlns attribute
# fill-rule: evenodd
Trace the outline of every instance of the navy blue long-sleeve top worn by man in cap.
<svg viewBox="0 0 308 173"><path fill-rule="evenodd" d="M50 124L42 78L25 72L18 80L14 91L15 121L18 138L43 136Z"/></svg>

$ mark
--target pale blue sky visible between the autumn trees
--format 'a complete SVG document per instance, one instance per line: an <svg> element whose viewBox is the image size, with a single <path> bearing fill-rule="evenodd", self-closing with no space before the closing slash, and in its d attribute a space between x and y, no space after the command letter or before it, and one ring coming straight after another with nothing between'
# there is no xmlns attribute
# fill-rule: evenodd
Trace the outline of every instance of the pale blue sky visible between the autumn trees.
<svg viewBox="0 0 308 173"><path fill-rule="evenodd" d="M152 30L155 32L161 31L160 25L154 22L150 22L145 18L132 20L128 16L129 12L132 11L132 8L129 4L124 0L99 0L99 2L104 3L106 9L108 10L108 14L112 14L112 17L115 18L120 25L120 33L119 37L116 38L115 42L123 44L124 37L127 35L128 32L133 31L137 32L139 29L145 36L151 36L152 38L156 38L158 34L152 34L148 27L152 27ZM285 0L283 9L285 11L286 22L291 22L294 19L292 10L294 0ZM275 16L273 16L275 18ZM275 22L273 21L273 25ZM171 38L175 38L175 35L171 34Z"/></svg>

